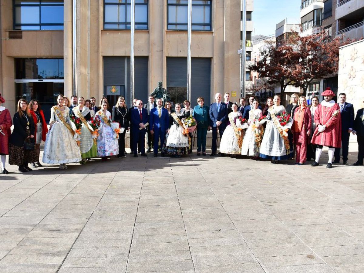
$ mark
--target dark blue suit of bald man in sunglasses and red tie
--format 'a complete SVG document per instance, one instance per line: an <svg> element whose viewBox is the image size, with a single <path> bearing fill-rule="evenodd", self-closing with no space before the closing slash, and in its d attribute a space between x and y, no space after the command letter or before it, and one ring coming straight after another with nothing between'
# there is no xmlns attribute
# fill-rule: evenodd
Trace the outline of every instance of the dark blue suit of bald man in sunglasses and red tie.
<svg viewBox="0 0 364 273"><path fill-rule="evenodd" d="M137 154L137 146L142 154L145 153L145 133L147 129L139 130L139 123L146 124L149 122L148 111L145 108L142 108L142 119L140 118L139 109L132 109L130 113L130 131L132 132L133 139L131 140L133 147L131 147L134 154Z"/></svg>

